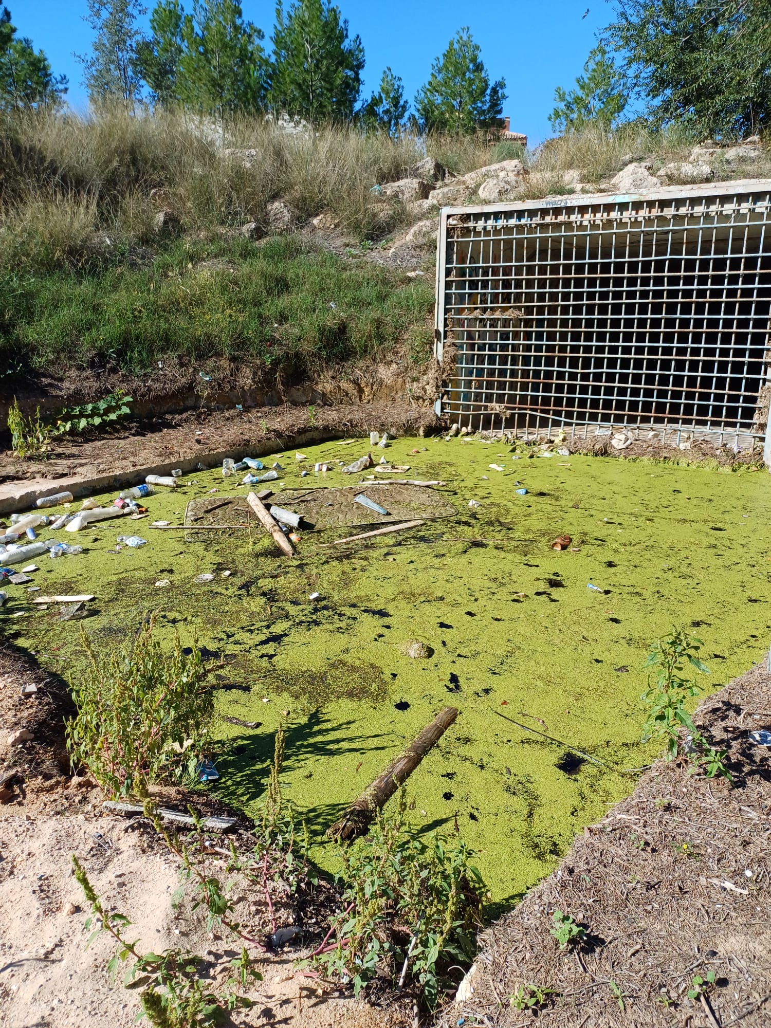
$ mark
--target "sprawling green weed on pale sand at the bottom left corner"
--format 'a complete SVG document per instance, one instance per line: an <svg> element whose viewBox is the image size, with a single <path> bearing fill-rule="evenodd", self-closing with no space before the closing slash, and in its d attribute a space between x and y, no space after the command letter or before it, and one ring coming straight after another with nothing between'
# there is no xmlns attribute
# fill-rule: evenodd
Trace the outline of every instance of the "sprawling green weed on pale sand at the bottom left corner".
<svg viewBox="0 0 771 1028"><path fill-rule="evenodd" d="M91 913L85 922L86 929L96 925L88 942L103 932L112 935L117 950L108 963L113 978L121 965L127 965L123 984L139 987L141 1014L155 1028L196 1028L217 1024L225 1012L252 1005L251 1000L234 991L246 990L262 976L253 967L252 959L242 947L240 956L230 961L232 974L219 992L204 987L200 957L186 950L171 949L162 953L142 953L137 949L138 940L125 938L132 926L124 915L107 910L95 891L85 869L78 858L72 857L75 879L85 893Z"/></svg>

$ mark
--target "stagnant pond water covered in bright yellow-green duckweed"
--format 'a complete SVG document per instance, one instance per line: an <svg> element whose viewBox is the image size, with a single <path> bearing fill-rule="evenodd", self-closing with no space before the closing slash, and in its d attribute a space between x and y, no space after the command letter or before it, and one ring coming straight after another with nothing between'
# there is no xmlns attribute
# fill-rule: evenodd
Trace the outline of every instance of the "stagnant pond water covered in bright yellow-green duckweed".
<svg viewBox="0 0 771 1028"><path fill-rule="evenodd" d="M426 449L413 454L415 446ZM305 450L302 464L289 451L278 457L283 481L352 484L338 470L317 481L313 472L300 479L300 469L348 462L366 448L331 442ZM120 644L157 608L162 633L176 627L189 639L195 631L212 654L234 655L218 709L263 725L218 726L216 788L254 808L274 729L289 710L284 778L317 840L442 706L457 706L457 722L409 780L411 816L449 833L456 818L493 895L505 900L548 873L634 778L565 760L564 749L499 712L544 730L541 719L549 734L614 768L647 763L639 696L652 639L672 624L693 626L705 640L712 673L702 683L710 689L767 648L768 475L584 456L513 460L500 442L478 440L399 440L388 455L409 464L409 477L444 479L457 516L344 552L318 544L346 529L305 531L294 560L259 530L251 542L246 531L186 542L182 533L149 528L156 518L181 523L186 502L214 486L248 491L219 471L196 473L176 493L153 495L144 521L61 534L86 552L38 558L35 584L45 593L95 593L97 613L83 624L102 647ZM518 495L517 487L528 491ZM470 510L469 500L480 506ZM108 552L131 530L149 544ZM551 550L565 533L578 552ZM229 578L220 576L225 570ZM217 577L194 583L203 572ZM156 588L159 579L171 587ZM590 591L589 582L604 591ZM6 631L44 665L77 674L78 623L56 620L54 609L14 620L34 593L10 591ZM410 639L434 656L404 656L398 647ZM334 860L316 852L323 865Z"/></svg>

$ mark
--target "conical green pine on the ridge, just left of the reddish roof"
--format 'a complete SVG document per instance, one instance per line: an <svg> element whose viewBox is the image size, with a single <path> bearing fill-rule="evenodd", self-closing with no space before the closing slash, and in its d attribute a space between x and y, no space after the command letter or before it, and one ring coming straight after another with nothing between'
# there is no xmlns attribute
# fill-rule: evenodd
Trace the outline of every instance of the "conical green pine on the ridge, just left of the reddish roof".
<svg viewBox="0 0 771 1028"><path fill-rule="evenodd" d="M490 84L480 54L471 31L463 28L434 61L431 78L415 97L425 130L461 134L500 125L506 81Z"/></svg>

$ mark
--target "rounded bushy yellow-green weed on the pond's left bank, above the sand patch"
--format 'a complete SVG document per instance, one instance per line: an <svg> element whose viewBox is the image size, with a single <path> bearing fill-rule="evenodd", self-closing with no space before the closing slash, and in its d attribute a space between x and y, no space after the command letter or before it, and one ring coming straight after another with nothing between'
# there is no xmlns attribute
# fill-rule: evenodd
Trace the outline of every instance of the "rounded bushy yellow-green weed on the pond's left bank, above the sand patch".
<svg viewBox="0 0 771 1028"><path fill-rule="evenodd" d="M111 796L143 795L158 781L192 779L210 738L210 669L193 639L171 653L153 636L156 615L134 640L100 660L85 631L86 667L73 684L77 713L66 726L73 762L84 764Z"/></svg>

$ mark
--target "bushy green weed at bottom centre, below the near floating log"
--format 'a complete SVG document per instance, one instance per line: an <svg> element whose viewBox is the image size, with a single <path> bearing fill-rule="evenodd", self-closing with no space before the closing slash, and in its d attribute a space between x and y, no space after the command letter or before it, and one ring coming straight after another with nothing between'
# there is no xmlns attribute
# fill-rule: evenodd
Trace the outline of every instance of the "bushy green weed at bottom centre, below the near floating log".
<svg viewBox="0 0 771 1028"><path fill-rule="evenodd" d="M342 850L343 909L311 958L356 995L382 969L397 988L410 982L433 1009L450 966L473 959L486 889L471 850L438 834L416 838L406 809L402 790L397 810Z"/></svg>

